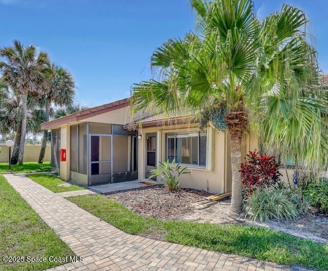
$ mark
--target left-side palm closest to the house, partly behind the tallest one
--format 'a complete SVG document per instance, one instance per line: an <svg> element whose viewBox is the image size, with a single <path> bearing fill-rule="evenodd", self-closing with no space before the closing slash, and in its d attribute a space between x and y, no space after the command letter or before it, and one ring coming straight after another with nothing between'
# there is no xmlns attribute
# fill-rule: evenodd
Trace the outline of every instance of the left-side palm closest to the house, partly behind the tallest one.
<svg viewBox="0 0 328 271"><path fill-rule="evenodd" d="M51 104L55 106L71 105L75 95L75 83L69 71L52 64L50 87L43 97L46 111L46 121L49 121ZM44 130L38 163L42 164L48 139L48 130Z"/></svg>

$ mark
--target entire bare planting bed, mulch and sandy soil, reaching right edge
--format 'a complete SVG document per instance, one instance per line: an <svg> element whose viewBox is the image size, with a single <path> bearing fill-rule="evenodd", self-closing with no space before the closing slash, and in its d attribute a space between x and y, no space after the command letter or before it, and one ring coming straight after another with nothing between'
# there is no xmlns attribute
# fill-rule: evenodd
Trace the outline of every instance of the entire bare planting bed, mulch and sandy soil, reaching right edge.
<svg viewBox="0 0 328 271"><path fill-rule="evenodd" d="M308 214L295 220L271 219L269 222L259 222L245 218L244 215L231 216L230 198L219 201L206 209L196 210L190 206L192 202L209 195L209 193L194 189L171 192L163 185L104 194L133 212L146 217L215 224L256 225L328 243L328 217L326 216Z"/></svg>

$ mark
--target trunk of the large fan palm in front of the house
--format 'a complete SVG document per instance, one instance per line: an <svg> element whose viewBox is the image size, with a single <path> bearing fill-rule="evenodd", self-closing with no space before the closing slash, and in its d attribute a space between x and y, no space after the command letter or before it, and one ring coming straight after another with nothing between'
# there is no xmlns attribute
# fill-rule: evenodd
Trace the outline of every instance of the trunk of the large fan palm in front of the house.
<svg viewBox="0 0 328 271"><path fill-rule="evenodd" d="M242 203L242 183L241 183L241 138L240 131L230 131L230 153L232 169L232 188L231 188L231 206L230 214L239 215Z"/></svg>

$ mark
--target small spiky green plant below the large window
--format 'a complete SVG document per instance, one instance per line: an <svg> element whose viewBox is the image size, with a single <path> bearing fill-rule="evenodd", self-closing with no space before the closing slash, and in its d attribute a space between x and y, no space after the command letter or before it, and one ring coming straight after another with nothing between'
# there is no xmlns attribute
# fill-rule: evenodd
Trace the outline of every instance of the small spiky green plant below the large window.
<svg viewBox="0 0 328 271"><path fill-rule="evenodd" d="M175 191L180 189L179 177L181 174L185 174L187 168L183 168L180 166L180 163L176 164L175 160L172 163L167 160L166 162L159 162L157 169L152 169L150 172L152 175L149 178L153 177L162 177L165 181L166 187L170 191ZM156 182L159 182L157 180Z"/></svg>

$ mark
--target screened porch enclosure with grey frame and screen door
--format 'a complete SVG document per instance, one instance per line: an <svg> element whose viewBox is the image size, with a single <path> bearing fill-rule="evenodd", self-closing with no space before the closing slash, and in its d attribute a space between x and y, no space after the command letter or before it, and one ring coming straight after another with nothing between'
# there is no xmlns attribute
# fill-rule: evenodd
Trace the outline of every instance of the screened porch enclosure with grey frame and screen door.
<svg viewBox="0 0 328 271"><path fill-rule="evenodd" d="M86 122L70 126L70 176L92 186L137 179L137 140L121 125Z"/></svg>

